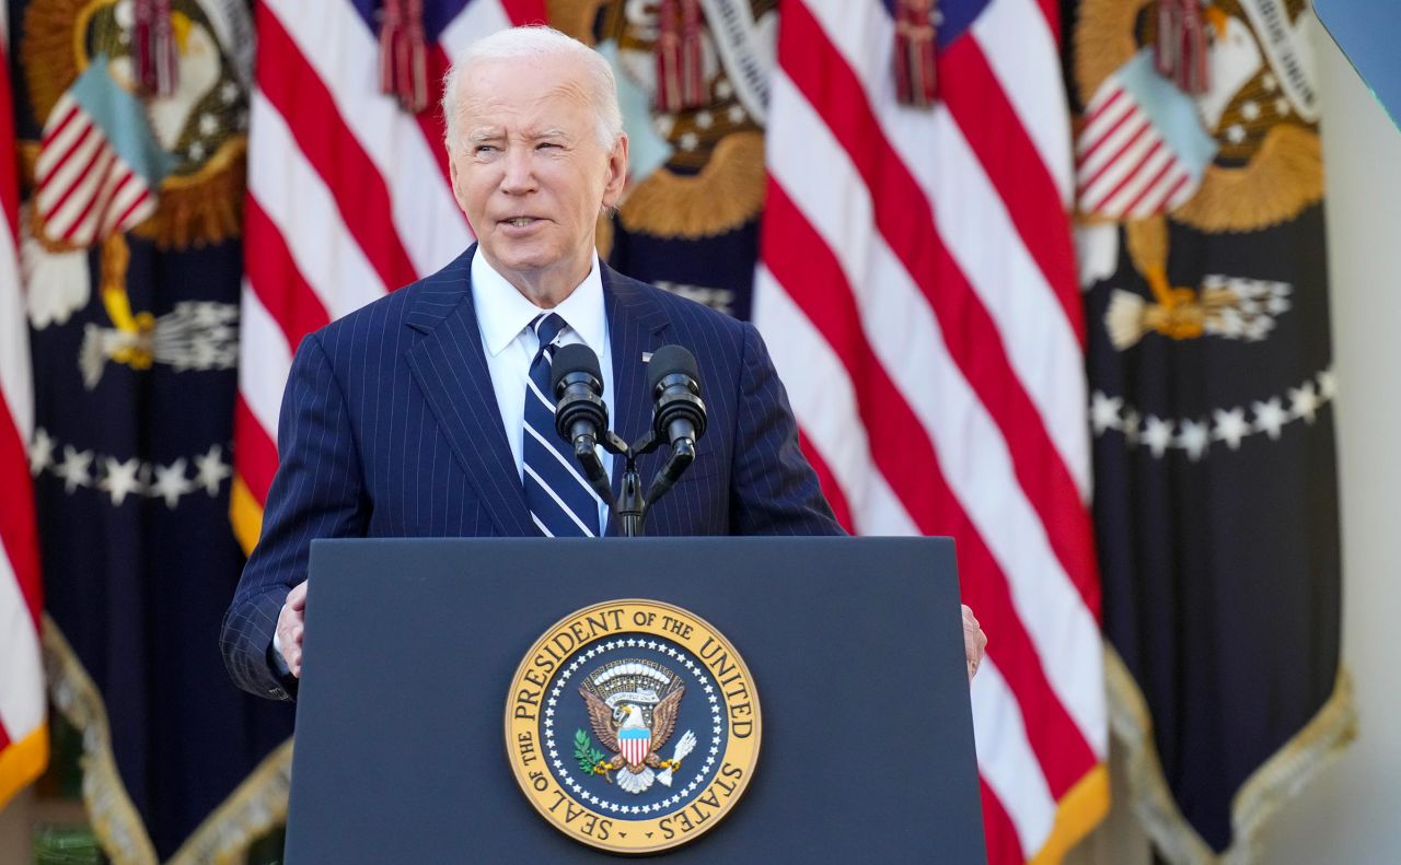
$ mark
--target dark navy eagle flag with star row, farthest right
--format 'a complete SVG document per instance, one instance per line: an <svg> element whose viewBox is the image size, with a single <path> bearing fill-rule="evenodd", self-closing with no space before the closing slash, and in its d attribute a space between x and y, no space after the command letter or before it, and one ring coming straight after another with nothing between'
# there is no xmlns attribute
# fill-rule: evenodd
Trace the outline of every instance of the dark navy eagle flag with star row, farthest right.
<svg viewBox="0 0 1401 865"><path fill-rule="evenodd" d="M1090 115L1139 80L1145 136L1209 154L1161 207L1080 202L1110 707L1157 854L1244 862L1356 735L1316 21L1302 0L1213 3L1194 92L1145 78L1157 27L1121 0L1082 0L1075 24Z"/></svg>

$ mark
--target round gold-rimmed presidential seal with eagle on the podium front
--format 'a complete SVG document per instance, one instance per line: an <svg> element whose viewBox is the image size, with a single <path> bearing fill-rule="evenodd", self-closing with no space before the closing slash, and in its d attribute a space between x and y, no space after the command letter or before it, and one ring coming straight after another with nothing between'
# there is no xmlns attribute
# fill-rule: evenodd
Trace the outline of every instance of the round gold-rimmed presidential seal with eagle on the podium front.
<svg viewBox="0 0 1401 865"><path fill-rule="evenodd" d="M744 794L759 698L734 647L657 600L566 616L531 647L506 701L506 754L535 810L611 852L695 840Z"/></svg>

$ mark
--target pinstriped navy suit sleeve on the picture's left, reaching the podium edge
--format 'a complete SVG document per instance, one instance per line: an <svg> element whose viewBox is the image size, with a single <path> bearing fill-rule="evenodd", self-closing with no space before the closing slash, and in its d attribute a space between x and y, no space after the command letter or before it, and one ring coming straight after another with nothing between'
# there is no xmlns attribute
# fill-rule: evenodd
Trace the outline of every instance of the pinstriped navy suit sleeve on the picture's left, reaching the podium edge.
<svg viewBox="0 0 1401 865"><path fill-rule="evenodd" d="M238 687L290 700L297 680L279 675L270 656L277 614L307 578L311 542L363 536L370 509L346 400L317 335L303 340L291 363L277 453L262 535L224 614L220 645Z"/></svg>

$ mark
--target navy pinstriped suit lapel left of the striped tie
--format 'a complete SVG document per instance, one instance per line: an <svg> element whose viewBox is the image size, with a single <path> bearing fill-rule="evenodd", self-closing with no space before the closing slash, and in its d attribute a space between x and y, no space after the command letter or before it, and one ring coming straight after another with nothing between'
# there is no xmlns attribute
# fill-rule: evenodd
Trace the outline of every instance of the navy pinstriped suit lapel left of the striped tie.
<svg viewBox="0 0 1401 865"><path fill-rule="evenodd" d="M409 349L406 358L497 530L506 536L538 535L506 441L472 305L475 251L474 245L425 280L408 316L408 325L425 336Z"/></svg>

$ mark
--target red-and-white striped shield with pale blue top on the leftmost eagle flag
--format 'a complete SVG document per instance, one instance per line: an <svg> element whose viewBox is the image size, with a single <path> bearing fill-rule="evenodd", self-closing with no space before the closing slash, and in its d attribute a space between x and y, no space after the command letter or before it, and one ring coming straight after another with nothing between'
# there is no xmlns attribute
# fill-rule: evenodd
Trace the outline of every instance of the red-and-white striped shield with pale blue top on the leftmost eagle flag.
<svg viewBox="0 0 1401 865"><path fill-rule="evenodd" d="M151 136L142 102L98 56L43 126L35 203L52 241L91 246L156 213L172 158Z"/></svg>

